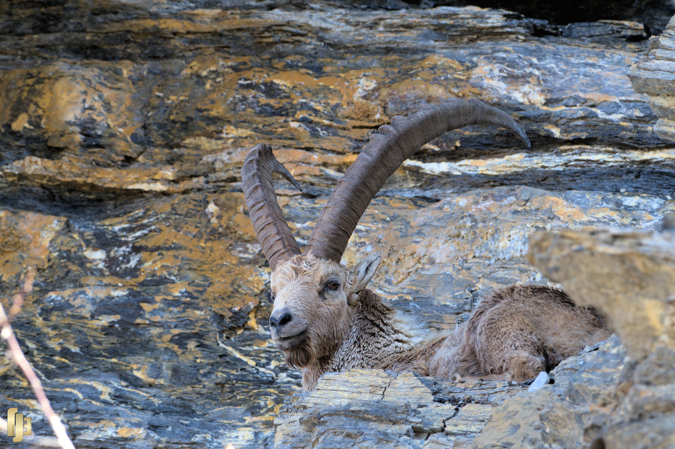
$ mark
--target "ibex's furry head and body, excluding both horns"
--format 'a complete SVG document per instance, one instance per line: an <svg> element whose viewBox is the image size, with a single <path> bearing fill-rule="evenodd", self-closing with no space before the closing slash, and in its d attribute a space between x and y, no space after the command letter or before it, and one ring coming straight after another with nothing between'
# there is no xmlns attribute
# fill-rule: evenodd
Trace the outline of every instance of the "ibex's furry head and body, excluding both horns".
<svg viewBox="0 0 675 449"><path fill-rule="evenodd" d="M273 272L274 308L294 314L277 345L302 368L304 390L325 372L352 368L524 381L610 335L592 307L542 285L494 291L455 330L431 332L365 289L378 264L374 253L351 272L307 254Z"/></svg>

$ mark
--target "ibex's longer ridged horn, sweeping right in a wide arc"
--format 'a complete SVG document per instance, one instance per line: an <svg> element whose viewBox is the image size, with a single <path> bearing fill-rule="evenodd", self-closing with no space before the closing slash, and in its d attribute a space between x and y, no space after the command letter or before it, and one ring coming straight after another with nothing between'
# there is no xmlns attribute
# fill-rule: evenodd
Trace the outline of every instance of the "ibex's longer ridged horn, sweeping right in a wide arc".
<svg viewBox="0 0 675 449"><path fill-rule="evenodd" d="M452 100L433 106L422 104L408 117L391 117L379 127L354 164L338 181L307 243L306 251L340 263L358 220L382 185L398 167L427 142L467 125L497 125L508 129L531 148L520 126L503 111L479 100Z"/></svg>

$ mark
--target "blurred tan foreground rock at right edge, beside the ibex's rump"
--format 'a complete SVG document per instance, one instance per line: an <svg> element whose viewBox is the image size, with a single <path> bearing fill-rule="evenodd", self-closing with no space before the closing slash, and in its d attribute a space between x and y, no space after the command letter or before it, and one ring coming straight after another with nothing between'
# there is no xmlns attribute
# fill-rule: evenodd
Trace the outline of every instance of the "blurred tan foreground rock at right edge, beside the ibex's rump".
<svg viewBox="0 0 675 449"><path fill-rule="evenodd" d="M531 251L542 272L578 303L605 313L632 359L616 398L607 402L612 412L596 423L604 445L597 447L674 447L674 231L536 233Z"/></svg>

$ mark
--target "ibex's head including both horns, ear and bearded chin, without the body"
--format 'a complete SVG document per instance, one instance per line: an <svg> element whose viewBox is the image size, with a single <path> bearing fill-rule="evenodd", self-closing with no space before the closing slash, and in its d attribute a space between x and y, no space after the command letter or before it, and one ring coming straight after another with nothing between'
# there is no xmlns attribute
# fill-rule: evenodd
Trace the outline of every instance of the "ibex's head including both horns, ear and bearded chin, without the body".
<svg viewBox="0 0 675 449"><path fill-rule="evenodd" d="M277 203L271 174L300 185L272 148L259 144L242 167L244 196L253 227L272 268L274 301L269 325L286 362L306 367L332 355L350 330L352 311L380 262L379 253L363 258L354 270L340 264L342 253L371 200L398 167L421 146L467 125L504 127L530 148L524 131L506 113L478 100L454 98L440 106L423 104L408 117L395 116L379 127L323 207L301 253ZM302 189L300 189L302 190Z"/></svg>

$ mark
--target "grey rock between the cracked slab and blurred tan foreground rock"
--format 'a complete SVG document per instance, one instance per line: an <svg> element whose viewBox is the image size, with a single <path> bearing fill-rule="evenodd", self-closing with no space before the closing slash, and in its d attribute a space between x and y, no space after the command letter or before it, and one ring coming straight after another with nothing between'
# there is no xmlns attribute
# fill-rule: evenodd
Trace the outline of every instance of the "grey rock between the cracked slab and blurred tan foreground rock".
<svg viewBox="0 0 675 449"><path fill-rule="evenodd" d="M554 384L497 405L471 447L587 448L616 406L628 361L617 336L597 351L562 361L551 371Z"/></svg>

